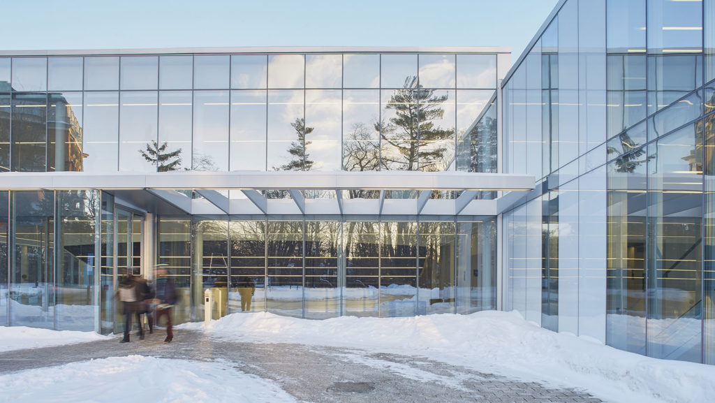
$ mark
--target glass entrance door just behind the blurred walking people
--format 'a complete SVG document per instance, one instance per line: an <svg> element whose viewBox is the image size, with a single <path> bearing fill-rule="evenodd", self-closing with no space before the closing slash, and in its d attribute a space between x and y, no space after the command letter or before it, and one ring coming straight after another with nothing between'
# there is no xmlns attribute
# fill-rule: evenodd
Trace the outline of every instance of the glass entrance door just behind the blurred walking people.
<svg viewBox="0 0 715 403"><path fill-rule="evenodd" d="M134 276L144 276L144 265L142 264L142 246L144 242L144 215L134 213L117 207L114 214L117 228L117 270L114 271L114 289L117 289L124 277L127 269L132 271ZM124 331L124 314L122 303L117 303L114 308L114 333Z"/></svg>

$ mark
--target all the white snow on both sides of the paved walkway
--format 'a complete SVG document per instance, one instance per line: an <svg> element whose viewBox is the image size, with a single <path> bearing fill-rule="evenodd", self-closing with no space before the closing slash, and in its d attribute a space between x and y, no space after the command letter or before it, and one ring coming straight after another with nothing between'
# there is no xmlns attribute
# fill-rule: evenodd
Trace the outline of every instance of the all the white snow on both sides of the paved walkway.
<svg viewBox="0 0 715 403"><path fill-rule="evenodd" d="M267 313L232 314L210 324L178 327L237 342L339 346L425 356L511 379L583 388L607 402L699 403L715 396L715 366L619 351L591 339L541 329L516 312L409 318L342 316L324 321ZM64 344L68 342L66 334L78 333L42 330L54 334L54 341L45 336L45 344L38 344L26 336L27 331L0 327L0 345L14 349ZM40 329L31 329L34 331ZM87 339L102 337L84 335ZM346 356L370 363L358 352ZM128 356L0 377L0 402L197 402L207 401L207 391L212 391L210 400L216 402L295 402L277 384L238 372L224 362Z"/></svg>

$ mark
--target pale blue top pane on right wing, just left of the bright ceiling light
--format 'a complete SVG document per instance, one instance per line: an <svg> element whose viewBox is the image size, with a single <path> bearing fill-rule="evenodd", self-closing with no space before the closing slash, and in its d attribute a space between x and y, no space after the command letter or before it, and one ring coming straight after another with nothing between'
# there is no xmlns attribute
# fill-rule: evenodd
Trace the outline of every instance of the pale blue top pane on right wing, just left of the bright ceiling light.
<svg viewBox="0 0 715 403"><path fill-rule="evenodd" d="M646 51L646 0L606 0L609 53Z"/></svg>

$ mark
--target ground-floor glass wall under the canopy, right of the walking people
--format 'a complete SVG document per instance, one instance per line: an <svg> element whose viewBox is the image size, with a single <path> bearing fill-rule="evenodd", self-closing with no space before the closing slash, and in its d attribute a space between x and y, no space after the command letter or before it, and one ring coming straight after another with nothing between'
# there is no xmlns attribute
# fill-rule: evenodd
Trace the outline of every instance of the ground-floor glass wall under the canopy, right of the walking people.
<svg viewBox="0 0 715 403"><path fill-rule="evenodd" d="M441 219L159 217L158 261L186 297L179 323L204 319L206 291L214 319L242 311L326 319L494 309L495 220Z"/></svg>

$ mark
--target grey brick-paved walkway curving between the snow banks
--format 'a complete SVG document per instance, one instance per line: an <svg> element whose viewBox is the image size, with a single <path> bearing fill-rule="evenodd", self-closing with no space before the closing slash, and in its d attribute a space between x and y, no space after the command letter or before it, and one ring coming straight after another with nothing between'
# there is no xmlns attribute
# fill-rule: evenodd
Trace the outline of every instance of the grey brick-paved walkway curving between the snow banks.
<svg viewBox="0 0 715 403"><path fill-rule="evenodd" d="M396 402L588 402L601 400L575 389L550 389L461 366L414 356L371 354L298 344L235 343L199 331L164 332L119 339L0 353L0 374L70 361L142 354L169 359L223 359L249 374L272 379L299 401L311 403Z"/></svg>

